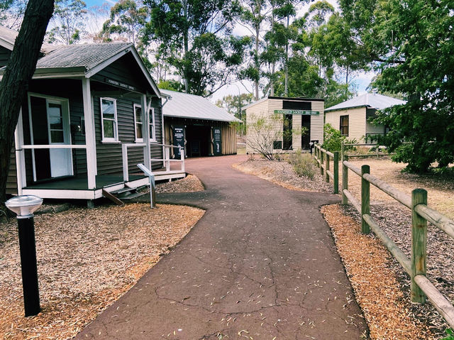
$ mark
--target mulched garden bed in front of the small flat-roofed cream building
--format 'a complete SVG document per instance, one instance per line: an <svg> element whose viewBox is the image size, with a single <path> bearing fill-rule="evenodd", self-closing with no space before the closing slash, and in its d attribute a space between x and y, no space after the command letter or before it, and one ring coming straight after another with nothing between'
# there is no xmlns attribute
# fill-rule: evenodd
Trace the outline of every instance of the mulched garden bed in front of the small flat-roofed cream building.
<svg viewBox="0 0 454 340"><path fill-rule="evenodd" d="M286 161L250 158L243 163L234 164L233 168L269 180L289 190L333 192L332 183L325 182L318 168L312 180L309 177L299 177L292 165Z"/></svg>

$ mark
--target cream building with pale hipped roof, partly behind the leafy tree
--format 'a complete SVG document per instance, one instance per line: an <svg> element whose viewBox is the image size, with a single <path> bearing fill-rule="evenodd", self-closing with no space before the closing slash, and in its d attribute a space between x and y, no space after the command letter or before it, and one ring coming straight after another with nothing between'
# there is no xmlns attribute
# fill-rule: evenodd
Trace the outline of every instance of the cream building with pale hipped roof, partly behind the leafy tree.
<svg viewBox="0 0 454 340"><path fill-rule="evenodd" d="M405 104L403 100L377 93L366 93L325 110L325 123L341 131L349 140L366 141L368 136L383 135L386 126L374 125L371 120L377 110Z"/></svg>

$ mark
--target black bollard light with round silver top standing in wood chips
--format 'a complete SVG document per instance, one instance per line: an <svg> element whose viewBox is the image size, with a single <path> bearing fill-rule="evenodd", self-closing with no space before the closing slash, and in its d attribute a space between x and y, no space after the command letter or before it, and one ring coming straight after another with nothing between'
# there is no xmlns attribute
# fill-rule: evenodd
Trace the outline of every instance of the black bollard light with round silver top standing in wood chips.
<svg viewBox="0 0 454 340"><path fill-rule="evenodd" d="M5 202L6 207L17 214L19 248L21 249L23 307L26 317L36 315L41 311L33 212L42 203L42 198L33 195L13 197Z"/></svg>

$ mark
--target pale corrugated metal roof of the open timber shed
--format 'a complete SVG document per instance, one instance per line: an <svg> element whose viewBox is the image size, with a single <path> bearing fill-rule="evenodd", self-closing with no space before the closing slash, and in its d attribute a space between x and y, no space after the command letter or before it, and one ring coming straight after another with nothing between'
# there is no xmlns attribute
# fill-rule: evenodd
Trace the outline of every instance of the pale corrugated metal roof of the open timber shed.
<svg viewBox="0 0 454 340"><path fill-rule="evenodd" d="M237 121L235 116L214 105L208 99L194 94L160 89L170 99L162 108L164 116L189 119L206 119L209 121Z"/></svg>

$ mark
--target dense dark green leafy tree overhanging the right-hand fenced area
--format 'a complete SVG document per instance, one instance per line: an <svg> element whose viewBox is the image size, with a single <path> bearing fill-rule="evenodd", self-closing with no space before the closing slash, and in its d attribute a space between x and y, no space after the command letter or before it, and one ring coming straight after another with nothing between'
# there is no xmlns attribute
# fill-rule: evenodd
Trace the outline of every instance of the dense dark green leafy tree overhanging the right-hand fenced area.
<svg viewBox="0 0 454 340"><path fill-rule="evenodd" d="M391 132L379 142L426 172L431 163L454 161L453 1L341 0L341 9L367 60L380 72L380 92L403 94L406 104L383 110L375 120Z"/></svg>

